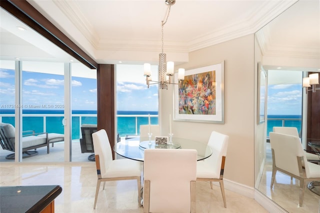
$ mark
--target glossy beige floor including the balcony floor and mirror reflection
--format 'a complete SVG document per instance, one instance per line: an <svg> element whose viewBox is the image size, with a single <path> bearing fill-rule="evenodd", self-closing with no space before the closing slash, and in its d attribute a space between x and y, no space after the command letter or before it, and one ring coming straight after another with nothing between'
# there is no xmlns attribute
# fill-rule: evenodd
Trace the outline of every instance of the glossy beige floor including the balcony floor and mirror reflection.
<svg viewBox="0 0 320 213"><path fill-rule="evenodd" d="M267 143L268 145L269 143ZM93 210L96 185L94 162L88 161L90 153L81 153L79 143L72 144L72 161L63 162L63 143L38 148L39 154L24 158L22 163L5 159L11 152L0 148L0 186L59 184L62 193L55 200L56 212L143 212L137 205L134 180L107 182L106 189L100 188L97 206ZM298 206L298 181L277 172L273 189L270 189L271 155L267 147L267 160L258 190L266 194L288 212L320 212L320 196L305 189L302 207ZM42 161L42 162L39 162ZM56 161L56 162L53 162ZM4 163L5 162L5 163ZM255 200L226 190L227 208L218 186L211 190L209 183L196 183L197 212L267 212Z"/></svg>

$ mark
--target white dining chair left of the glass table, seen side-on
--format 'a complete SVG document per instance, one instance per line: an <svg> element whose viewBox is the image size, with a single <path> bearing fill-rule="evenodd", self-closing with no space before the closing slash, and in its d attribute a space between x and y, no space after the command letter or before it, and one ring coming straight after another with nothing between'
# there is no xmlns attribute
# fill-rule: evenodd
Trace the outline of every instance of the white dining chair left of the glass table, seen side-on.
<svg viewBox="0 0 320 213"><path fill-rule="evenodd" d="M103 189L105 181L136 179L138 203L141 206L141 169L139 161L131 159L112 159L111 146L108 135L104 129L100 129L92 133L95 165L97 172L97 182L94 197L93 208L95 208L96 200L100 188L101 181Z"/></svg>

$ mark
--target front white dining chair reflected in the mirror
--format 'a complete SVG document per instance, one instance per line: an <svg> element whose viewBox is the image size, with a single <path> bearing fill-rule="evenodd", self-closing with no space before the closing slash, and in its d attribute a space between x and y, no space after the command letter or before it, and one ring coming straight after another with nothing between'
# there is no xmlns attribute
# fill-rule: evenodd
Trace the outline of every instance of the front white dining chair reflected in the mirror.
<svg viewBox="0 0 320 213"><path fill-rule="evenodd" d="M277 132L270 132L269 136L272 153L270 187L273 187L276 171L298 179L299 206L302 206L306 182L320 180L320 165L306 160L299 137Z"/></svg>

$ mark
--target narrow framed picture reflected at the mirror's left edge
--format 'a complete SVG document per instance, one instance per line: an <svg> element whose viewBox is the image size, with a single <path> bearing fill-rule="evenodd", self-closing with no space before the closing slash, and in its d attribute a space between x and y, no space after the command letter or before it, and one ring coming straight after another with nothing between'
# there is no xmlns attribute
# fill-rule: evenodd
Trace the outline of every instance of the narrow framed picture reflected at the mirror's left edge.
<svg viewBox="0 0 320 213"><path fill-rule="evenodd" d="M266 106L266 71L263 69L260 62L258 62L258 86L257 86L257 124L263 123L265 120L265 106Z"/></svg>

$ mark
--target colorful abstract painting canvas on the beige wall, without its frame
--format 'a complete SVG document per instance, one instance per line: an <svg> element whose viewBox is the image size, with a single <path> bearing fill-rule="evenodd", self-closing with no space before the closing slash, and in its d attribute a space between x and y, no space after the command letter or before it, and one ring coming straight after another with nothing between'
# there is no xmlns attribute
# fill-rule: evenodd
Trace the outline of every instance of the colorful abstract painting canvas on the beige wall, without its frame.
<svg viewBox="0 0 320 213"><path fill-rule="evenodd" d="M179 114L216 114L215 70L184 76L178 87Z"/></svg>

